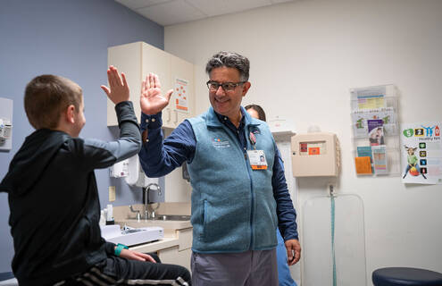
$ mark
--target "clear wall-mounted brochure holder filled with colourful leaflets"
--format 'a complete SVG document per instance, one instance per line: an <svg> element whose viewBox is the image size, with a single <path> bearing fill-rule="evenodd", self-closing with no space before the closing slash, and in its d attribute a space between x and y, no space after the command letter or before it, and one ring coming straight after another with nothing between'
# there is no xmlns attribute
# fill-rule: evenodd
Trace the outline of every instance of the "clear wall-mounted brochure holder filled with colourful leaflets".
<svg viewBox="0 0 442 286"><path fill-rule="evenodd" d="M350 89L354 166L357 175L399 175L397 88Z"/></svg>

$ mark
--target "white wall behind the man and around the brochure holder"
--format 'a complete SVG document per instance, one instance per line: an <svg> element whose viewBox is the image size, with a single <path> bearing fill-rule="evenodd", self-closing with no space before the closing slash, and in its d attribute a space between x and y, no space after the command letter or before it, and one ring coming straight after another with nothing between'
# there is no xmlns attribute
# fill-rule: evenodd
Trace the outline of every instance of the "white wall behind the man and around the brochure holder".
<svg viewBox="0 0 442 286"><path fill-rule="evenodd" d="M440 0L304 0L166 27L164 44L200 67L198 114L209 105L204 65L225 49L251 61L244 104L291 118L298 132L317 124L338 134L338 192L363 198L371 281L381 266L442 272L442 187L404 185L399 177L356 178L348 89L396 84L400 122L442 121L441 31ZM299 206L325 194L325 180L298 182Z"/></svg>

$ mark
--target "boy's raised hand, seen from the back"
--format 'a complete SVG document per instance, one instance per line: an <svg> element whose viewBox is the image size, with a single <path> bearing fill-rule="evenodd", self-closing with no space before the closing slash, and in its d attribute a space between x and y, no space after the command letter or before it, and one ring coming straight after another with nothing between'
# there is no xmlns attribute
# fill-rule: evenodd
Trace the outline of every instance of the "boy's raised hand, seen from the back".
<svg viewBox="0 0 442 286"><path fill-rule="evenodd" d="M122 78L122 80L121 80ZM107 97L117 105L122 101L129 100L129 87L126 81L126 75L121 72L121 78L116 67L111 65L107 70L107 80L109 80L109 88L101 86Z"/></svg>

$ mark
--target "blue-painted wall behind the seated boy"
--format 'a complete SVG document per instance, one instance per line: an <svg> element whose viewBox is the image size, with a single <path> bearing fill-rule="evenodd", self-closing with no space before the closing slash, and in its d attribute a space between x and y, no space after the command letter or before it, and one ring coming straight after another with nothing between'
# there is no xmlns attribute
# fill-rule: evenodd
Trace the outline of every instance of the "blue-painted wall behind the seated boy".
<svg viewBox="0 0 442 286"><path fill-rule="evenodd" d="M80 137L113 139L106 127L107 47L145 41L163 49L164 29L111 0L3 0L0 9L0 97L13 99L13 150L0 152L0 179L32 127L23 110L26 84L43 73L62 75L82 88L86 126ZM141 191L96 171L102 206L116 185L114 205L141 203ZM38 207L38 206L37 206ZM7 195L0 193L0 273L11 271L13 240Z"/></svg>

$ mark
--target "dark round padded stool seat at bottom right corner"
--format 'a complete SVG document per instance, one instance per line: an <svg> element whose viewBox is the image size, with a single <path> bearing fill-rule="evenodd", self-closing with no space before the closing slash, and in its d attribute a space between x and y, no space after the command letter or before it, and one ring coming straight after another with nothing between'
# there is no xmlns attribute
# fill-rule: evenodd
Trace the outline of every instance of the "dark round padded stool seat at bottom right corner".
<svg viewBox="0 0 442 286"><path fill-rule="evenodd" d="M442 273L411 267L387 267L373 271L375 286L442 286Z"/></svg>

